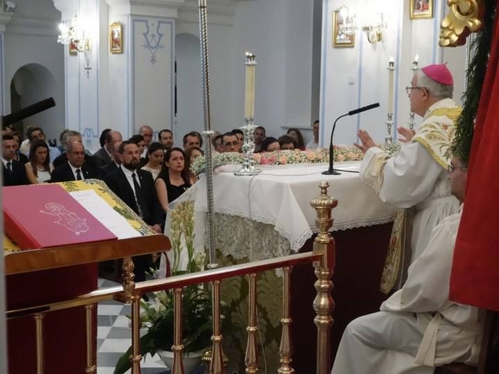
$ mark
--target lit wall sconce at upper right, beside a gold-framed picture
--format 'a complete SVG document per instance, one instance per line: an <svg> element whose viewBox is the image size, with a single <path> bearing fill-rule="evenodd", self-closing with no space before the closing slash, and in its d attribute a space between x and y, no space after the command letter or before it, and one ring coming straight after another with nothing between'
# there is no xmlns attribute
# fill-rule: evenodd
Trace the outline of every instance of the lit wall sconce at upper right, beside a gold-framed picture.
<svg viewBox="0 0 499 374"><path fill-rule="evenodd" d="M367 40L376 44L383 39L383 30L387 28L382 12L376 12L369 6L361 6L358 12L349 10L346 6L340 9L342 23L339 32L345 35L353 35L357 30L365 31Z"/></svg>

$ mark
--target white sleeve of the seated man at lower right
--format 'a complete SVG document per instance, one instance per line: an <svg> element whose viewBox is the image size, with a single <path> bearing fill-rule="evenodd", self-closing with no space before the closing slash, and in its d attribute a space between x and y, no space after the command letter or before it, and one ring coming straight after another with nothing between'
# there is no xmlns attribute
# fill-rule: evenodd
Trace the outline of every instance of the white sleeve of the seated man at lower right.
<svg viewBox="0 0 499 374"><path fill-rule="evenodd" d="M435 228L428 247L409 267L408 279L401 290L390 296L380 310L435 312L448 303L450 270L459 222L447 222Z"/></svg>

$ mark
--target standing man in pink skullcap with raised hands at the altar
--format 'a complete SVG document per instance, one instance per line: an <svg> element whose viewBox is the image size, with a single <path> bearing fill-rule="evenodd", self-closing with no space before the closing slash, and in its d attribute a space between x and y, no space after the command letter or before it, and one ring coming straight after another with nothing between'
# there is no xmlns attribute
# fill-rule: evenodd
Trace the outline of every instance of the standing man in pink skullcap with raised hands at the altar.
<svg viewBox="0 0 499 374"><path fill-rule="evenodd" d="M407 136L408 143L399 154L389 157L363 130L358 133L362 144L356 144L365 153L360 165L362 181L383 202L404 208L397 211L394 222L381 282L384 292L394 287L397 277L403 281L405 269L426 248L432 229L459 207L457 199L450 195L446 177L448 150L455 134L455 121L461 113L452 100L452 74L444 64L425 66L414 73L407 92L411 111L423 117L423 123L414 136L408 130L400 131ZM410 211L405 209L412 207ZM411 252L406 255L404 237L410 238L405 251L410 247Z"/></svg>

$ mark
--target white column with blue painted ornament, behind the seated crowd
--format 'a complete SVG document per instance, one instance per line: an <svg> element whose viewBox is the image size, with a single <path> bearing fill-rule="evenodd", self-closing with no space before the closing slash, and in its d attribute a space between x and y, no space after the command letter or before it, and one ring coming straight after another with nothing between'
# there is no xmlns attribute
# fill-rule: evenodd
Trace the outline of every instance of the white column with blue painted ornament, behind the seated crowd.
<svg viewBox="0 0 499 374"><path fill-rule="evenodd" d="M109 24L123 24L123 53L109 53L107 106L123 138L141 125L157 132L174 116L175 20L184 0L107 0ZM107 47L109 48L109 46Z"/></svg>

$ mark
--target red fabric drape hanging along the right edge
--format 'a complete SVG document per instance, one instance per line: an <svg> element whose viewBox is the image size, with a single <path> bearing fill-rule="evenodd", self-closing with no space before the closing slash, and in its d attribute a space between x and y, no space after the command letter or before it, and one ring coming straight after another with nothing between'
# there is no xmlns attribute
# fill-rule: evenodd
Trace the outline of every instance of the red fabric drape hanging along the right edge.
<svg viewBox="0 0 499 374"><path fill-rule="evenodd" d="M499 12L471 148L450 299L499 310Z"/></svg>

